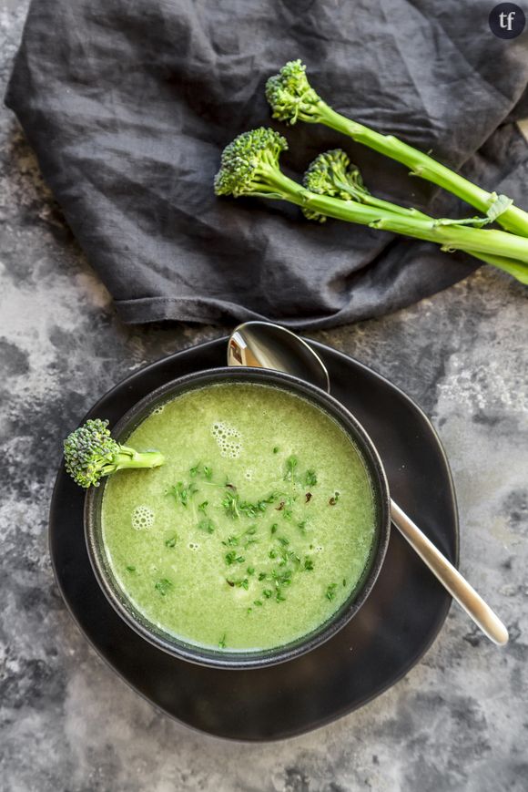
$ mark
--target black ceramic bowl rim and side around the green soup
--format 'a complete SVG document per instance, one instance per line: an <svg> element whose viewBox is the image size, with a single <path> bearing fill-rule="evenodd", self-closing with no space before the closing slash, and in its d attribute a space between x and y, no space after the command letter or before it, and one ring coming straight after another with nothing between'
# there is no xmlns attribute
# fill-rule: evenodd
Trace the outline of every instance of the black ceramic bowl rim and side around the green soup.
<svg viewBox="0 0 528 792"><path fill-rule="evenodd" d="M311 633L294 642L257 652L228 652L213 648L203 648L187 643L171 633L160 629L129 602L127 595L119 587L108 563L102 539L101 504L105 492L105 480L101 486L89 489L85 502L85 535L88 555L96 574L96 579L105 592L108 601L116 609L119 616L136 630L143 638L175 657L217 668L259 668L274 663L283 663L300 654L309 652L320 643L337 633L360 610L361 605L371 592L378 577L381 564L385 557L390 534L390 498L385 472L381 459L371 438L367 435L359 421L332 396L320 388L298 379L297 377L269 371L261 368L214 368L183 376L158 388L137 402L128 410L113 429L113 436L125 443L127 437L155 409L175 396L187 393L195 388L203 388L218 383L256 383L285 390L308 400L320 407L333 418L353 440L359 449L364 463L371 474L371 483L376 506L376 537L373 542L371 557L355 591L349 599L335 612L328 621L323 622Z"/></svg>

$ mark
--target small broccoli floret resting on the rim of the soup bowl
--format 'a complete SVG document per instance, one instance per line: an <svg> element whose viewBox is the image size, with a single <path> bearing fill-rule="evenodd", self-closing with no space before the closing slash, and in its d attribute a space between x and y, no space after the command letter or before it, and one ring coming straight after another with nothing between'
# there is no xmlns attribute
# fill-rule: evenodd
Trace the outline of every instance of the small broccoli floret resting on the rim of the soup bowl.
<svg viewBox="0 0 528 792"><path fill-rule="evenodd" d="M100 418L88 420L64 441L66 471L80 487L98 487L100 478L117 470L158 468L165 462L158 451L140 453L117 443L107 426Z"/></svg>

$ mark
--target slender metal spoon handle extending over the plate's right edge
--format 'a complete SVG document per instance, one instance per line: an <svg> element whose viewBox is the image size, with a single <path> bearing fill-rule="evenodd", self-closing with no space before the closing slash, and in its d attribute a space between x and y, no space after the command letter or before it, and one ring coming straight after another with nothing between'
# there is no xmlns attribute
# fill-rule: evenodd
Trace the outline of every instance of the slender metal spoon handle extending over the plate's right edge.
<svg viewBox="0 0 528 792"><path fill-rule="evenodd" d="M421 561L427 564L442 586L450 592L453 600L456 600L473 622L481 628L482 633L493 643L499 645L508 643L508 631L496 613L393 500L391 500L391 519L413 550L416 550Z"/></svg>

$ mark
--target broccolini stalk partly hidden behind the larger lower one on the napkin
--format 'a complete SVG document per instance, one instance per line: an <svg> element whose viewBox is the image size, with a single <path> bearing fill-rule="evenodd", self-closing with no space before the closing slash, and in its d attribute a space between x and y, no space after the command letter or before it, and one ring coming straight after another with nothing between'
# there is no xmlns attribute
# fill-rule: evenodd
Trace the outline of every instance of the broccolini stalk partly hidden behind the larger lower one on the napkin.
<svg viewBox="0 0 528 792"><path fill-rule="evenodd" d="M454 223L457 225L482 226L490 222L489 218L482 217L472 217L458 221L435 220L435 218L416 209L407 209L397 203L376 198L365 187L359 168L350 162L348 155L342 149L325 151L316 157L304 174L303 184L308 190L319 195L330 195L340 198L342 201L360 201L370 206L393 211L395 214L418 217L421 220L428 220L439 225L452 225ZM318 220L320 222L326 220L324 215L316 211L305 209L304 214L309 220ZM513 275L522 283L526 283L528 270L523 263L515 262L513 259L506 257L492 255L491 253L485 254L471 250L466 252L471 253L472 256L482 262L492 264L492 266Z"/></svg>

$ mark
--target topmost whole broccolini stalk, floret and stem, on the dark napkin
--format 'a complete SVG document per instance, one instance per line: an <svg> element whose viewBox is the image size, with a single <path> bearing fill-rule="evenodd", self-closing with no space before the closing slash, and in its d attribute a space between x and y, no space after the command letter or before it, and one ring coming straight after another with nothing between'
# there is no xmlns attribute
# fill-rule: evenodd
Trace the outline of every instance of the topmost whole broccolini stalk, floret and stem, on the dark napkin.
<svg viewBox="0 0 528 792"><path fill-rule="evenodd" d="M342 132L358 143L406 165L411 169L412 175L449 190L475 209L487 214L491 220L497 220L507 231L528 236L528 212L513 206L513 201L506 196L482 190L472 181L464 179L441 162L393 135L381 135L380 132L330 108L310 86L306 67L300 60L289 61L280 69L278 75L269 77L266 98L273 118L289 124L295 124L298 120L324 124L330 129Z"/></svg>

